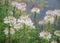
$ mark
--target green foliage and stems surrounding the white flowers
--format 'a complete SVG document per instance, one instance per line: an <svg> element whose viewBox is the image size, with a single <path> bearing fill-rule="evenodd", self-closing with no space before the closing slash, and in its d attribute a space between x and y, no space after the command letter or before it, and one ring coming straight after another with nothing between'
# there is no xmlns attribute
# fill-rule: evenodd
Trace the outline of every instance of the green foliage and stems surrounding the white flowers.
<svg viewBox="0 0 60 43"><path fill-rule="evenodd" d="M36 0L33 1L36 2ZM44 0L39 0L38 3L41 3L42 6L44 6L45 4ZM51 43L52 40L57 40L60 38L53 34L51 39L43 39L39 37L37 28L32 28L26 25L24 25L23 28L20 28L19 30L14 29L15 34L11 35L9 33L8 36L6 36L4 34L4 30L5 28L10 29L10 26L9 24L4 24L4 18L6 16L14 16L17 19L22 14L21 11L18 11L15 7L13 8L10 4L11 3L9 2L9 0L5 0L4 4L2 4L2 0L0 1L0 43ZM11 10L13 11L12 15L10 14ZM34 15L34 22L36 26L36 13ZM56 26L57 25L54 24L54 31L56 29ZM50 29L50 23L48 23L47 28ZM41 29L43 29L43 26L41 27ZM58 42L60 43L60 39L58 40Z"/></svg>

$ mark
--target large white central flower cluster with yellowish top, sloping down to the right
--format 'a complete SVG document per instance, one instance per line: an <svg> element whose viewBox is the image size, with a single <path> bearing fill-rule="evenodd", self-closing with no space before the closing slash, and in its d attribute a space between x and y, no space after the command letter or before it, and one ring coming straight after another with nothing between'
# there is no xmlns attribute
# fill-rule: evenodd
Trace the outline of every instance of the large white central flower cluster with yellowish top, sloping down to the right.
<svg viewBox="0 0 60 43"><path fill-rule="evenodd" d="M33 22L28 15L21 15L20 18L18 19L18 22L24 23L30 27L34 27Z"/></svg>

